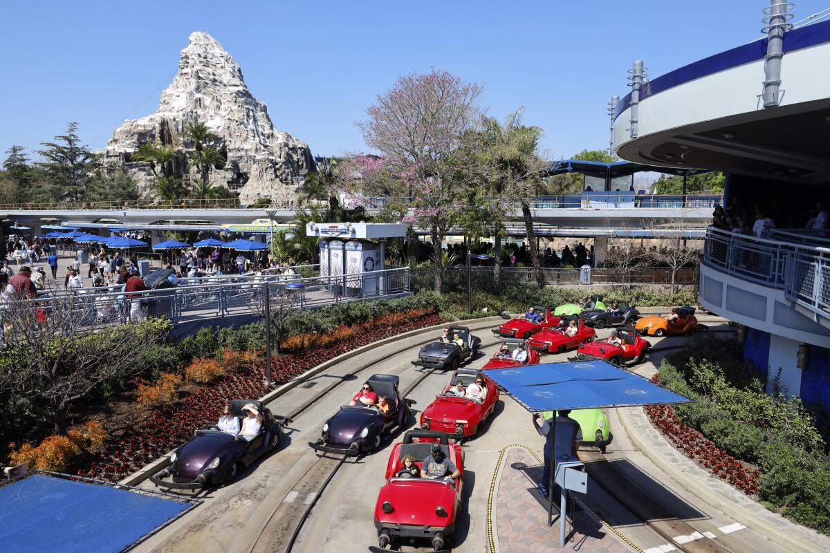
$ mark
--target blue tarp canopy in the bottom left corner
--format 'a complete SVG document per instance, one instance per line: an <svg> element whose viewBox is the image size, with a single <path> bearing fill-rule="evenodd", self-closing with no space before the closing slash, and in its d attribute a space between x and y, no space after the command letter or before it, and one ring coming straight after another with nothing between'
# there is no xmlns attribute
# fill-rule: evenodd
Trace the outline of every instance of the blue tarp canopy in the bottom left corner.
<svg viewBox="0 0 830 553"><path fill-rule="evenodd" d="M122 551L190 505L33 474L0 488L0 550Z"/></svg>

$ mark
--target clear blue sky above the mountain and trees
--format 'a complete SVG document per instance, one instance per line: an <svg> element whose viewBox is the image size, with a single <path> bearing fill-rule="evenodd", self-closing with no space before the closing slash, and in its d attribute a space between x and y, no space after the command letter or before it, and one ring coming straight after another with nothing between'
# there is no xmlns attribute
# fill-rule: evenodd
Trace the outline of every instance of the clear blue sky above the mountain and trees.
<svg viewBox="0 0 830 553"><path fill-rule="evenodd" d="M354 122L374 97L434 67L484 85L492 115L525 106L525 122L545 131L543 148L569 157L608 146L606 104L627 94L633 60L655 77L751 41L768 4L6 2L0 158L73 120L85 143L103 148L125 119L154 112L196 30L236 58L276 128L315 154L366 151ZM796 20L828 6L800 0Z"/></svg>

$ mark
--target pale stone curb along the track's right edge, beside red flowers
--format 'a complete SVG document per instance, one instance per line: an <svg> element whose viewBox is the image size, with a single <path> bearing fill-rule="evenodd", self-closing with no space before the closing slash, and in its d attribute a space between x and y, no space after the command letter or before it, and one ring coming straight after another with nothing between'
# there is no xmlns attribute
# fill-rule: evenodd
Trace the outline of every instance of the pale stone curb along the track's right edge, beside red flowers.
<svg viewBox="0 0 830 553"><path fill-rule="evenodd" d="M753 512L750 512L745 507L735 504L735 502L730 501L725 494L721 494L716 492L713 488L706 487L701 483L696 482L689 476L689 472L693 472L695 469L700 471L700 473L705 473L706 478L710 478L713 483L721 484L730 488L730 490L737 492L734 488L730 486L730 484L725 483L724 481L720 480L720 478L715 478L711 476L708 472L704 471L702 468L697 467L696 465L689 470L681 470L681 468L677 467L675 463L671 463L669 459L664 457L663 455L657 453L652 444L647 444L646 440L643 439L642 434L640 434L639 429L633 423L630 418L631 410L642 410L641 407L627 407L618 409L617 412L619 414L619 419L623 423L623 428L628 434L628 437L631 439L632 443L639 449L642 454L644 454L652 463L657 465L657 468L660 468L663 472L665 472L672 480L677 483L680 483L683 488L686 488L688 492L691 492L696 497L700 498L702 502L705 502L707 505L720 509L721 512L724 512L729 517L735 519L735 521L740 522L744 526L748 527L750 530L753 530L759 533L761 536L766 536L772 541L775 541L779 544L779 546L784 546L790 551L793 552L802 552L802 551L822 551L820 548L821 546L815 542L811 543L809 541L804 541L798 536L793 536L793 530L798 530L799 532L807 531L814 533L817 541L824 541L828 540L826 536L822 536L818 534L818 532L812 531L805 526L799 526L789 519L782 517L781 515L769 511L766 507L762 506L760 503L755 502L754 500L746 497L748 504L753 504L756 509L763 509L764 512L769 513L770 517L775 517L779 519L780 524L778 526L774 526L770 524L770 520L765 520L763 517L759 517ZM651 420L648 420L647 415L645 413L642 416L647 420L649 424L651 424ZM652 425L653 428L653 425ZM665 443L666 447L671 449L672 452L676 452L681 458L688 461L688 463L694 463L691 459L686 458L686 455L681 454L678 452L671 444L669 444L665 438L663 438L662 434L659 434L657 429L654 429L655 432L660 436L662 441ZM819 549L817 549L817 546ZM827 550L824 550L827 551Z"/></svg>

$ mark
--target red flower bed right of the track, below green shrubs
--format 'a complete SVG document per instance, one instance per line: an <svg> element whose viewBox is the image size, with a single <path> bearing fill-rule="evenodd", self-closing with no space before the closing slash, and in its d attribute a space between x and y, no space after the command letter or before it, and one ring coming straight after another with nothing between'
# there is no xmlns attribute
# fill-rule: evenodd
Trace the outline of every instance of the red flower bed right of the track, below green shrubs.
<svg viewBox="0 0 830 553"><path fill-rule="evenodd" d="M655 375L653 381L658 381ZM674 442L689 458L706 467L711 474L723 478L748 495L758 495L760 471L747 466L700 432L691 429L680 420L671 405L647 405L646 414L667 439Z"/></svg>

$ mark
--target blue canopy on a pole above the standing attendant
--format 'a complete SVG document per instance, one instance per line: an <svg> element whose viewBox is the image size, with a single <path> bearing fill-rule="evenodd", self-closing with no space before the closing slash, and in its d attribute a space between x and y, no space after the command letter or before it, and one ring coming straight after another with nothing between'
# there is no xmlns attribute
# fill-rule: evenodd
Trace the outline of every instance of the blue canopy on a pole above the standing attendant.
<svg viewBox="0 0 830 553"><path fill-rule="evenodd" d="M531 412L691 401L607 361L545 363L486 373Z"/></svg>

